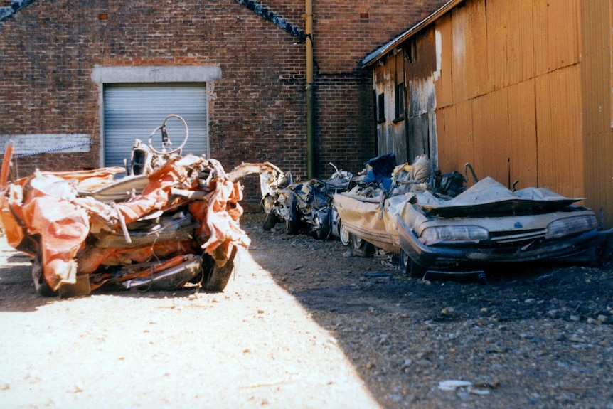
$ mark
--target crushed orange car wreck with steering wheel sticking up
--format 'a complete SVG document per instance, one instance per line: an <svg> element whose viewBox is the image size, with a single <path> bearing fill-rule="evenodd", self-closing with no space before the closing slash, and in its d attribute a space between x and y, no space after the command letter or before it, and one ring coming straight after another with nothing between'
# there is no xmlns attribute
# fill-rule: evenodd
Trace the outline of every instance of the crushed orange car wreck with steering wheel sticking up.
<svg viewBox="0 0 613 409"><path fill-rule="evenodd" d="M166 130L170 119L184 127L176 148ZM158 132L161 149L152 142ZM148 143L134 140L125 169L36 171L10 183L7 147L0 221L9 245L32 257L38 294L69 297L102 287L175 290L188 283L225 288L237 248L250 244L240 228L238 179L263 165L225 172L215 159L183 156L187 138L183 118L169 115Z"/></svg>

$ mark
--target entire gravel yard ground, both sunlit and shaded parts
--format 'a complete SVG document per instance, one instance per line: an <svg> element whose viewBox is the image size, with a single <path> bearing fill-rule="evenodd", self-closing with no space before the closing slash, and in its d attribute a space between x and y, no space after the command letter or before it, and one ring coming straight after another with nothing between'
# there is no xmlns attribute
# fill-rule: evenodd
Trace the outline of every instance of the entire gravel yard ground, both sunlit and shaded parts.
<svg viewBox="0 0 613 409"><path fill-rule="evenodd" d="M412 280L262 220L222 293L45 299L0 242L0 406L613 409L608 265Z"/></svg>

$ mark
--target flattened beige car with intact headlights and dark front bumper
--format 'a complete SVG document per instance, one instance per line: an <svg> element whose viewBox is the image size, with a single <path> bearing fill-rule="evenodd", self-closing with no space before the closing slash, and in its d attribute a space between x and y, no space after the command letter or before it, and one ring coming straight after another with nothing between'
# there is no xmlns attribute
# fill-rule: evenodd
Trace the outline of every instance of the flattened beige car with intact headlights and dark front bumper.
<svg viewBox="0 0 613 409"><path fill-rule="evenodd" d="M371 253L373 246L383 249L413 277L472 274L518 262L597 260L602 235L595 213L576 204L582 198L548 188L511 191L490 177L474 176L476 183L464 188L462 174L437 174L425 156L412 166L392 166L390 174L393 157L383 159L388 166L379 178L334 195L358 255L368 255L369 246Z"/></svg>

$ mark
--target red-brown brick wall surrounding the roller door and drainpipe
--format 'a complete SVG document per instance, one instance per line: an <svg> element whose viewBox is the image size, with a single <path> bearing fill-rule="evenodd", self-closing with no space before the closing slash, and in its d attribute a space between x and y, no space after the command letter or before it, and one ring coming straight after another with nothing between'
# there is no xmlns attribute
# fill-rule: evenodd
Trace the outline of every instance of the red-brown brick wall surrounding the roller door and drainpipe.
<svg viewBox="0 0 613 409"><path fill-rule="evenodd" d="M303 0L260 3L304 28ZM376 153L371 78L359 63L443 3L314 0L318 176L331 174L329 161L357 172ZM94 142L88 153L16 159L18 176L99 166L96 65L213 64L222 78L210 105L212 156L226 169L272 161L306 177L304 44L238 1L36 0L0 22L0 35L0 135ZM245 182L246 200L257 202L257 178Z"/></svg>

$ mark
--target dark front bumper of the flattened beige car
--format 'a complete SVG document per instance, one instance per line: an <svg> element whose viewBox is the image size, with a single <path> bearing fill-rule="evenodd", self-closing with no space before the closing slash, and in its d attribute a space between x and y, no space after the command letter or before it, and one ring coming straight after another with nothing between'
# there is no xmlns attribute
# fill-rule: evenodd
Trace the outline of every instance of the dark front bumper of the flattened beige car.
<svg viewBox="0 0 613 409"><path fill-rule="evenodd" d="M400 248L418 265L428 270L462 271L496 263L535 262L558 260L595 261L600 241L598 230L590 230L570 238L534 241L533 243L506 243L504 246L465 247L424 245L402 218L398 218Z"/></svg>

